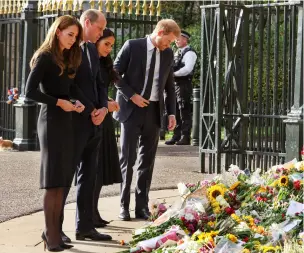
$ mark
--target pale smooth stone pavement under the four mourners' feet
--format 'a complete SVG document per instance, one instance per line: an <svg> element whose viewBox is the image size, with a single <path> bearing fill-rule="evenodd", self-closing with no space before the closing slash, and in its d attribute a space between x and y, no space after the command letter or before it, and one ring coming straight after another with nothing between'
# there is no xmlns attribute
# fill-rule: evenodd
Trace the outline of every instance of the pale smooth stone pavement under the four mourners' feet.
<svg viewBox="0 0 304 253"><path fill-rule="evenodd" d="M180 201L177 190L151 191L150 199L165 199L167 206ZM132 231L135 228L142 227L145 221L133 219L132 221L120 221L117 218L119 213L119 197L105 197L99 201L99 210L101 216L111 221L101 233L110 234L112 241L93 242L75 240L75 203L68 204L65 209L64 231L72 239L74 248L65 250L75 253L112 253L128 249L126 245L121 245L120 241L127 242L132 238ZM132 194L131 205L134 207L134 194ZM134 210L131 211L131 217L134 217ZM41 233L44 227L43 212L37 212L31 215L15 218L0 223L0 253L39 253L43 252L43 243Z"/></svg>

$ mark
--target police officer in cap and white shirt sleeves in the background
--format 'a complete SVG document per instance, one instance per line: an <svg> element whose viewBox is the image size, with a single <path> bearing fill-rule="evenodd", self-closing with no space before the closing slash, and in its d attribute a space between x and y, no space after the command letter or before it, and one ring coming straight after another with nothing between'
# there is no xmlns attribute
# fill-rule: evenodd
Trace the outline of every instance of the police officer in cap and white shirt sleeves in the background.
<svg viewBox="0 0 304 253"><path fill-rule="evenodd" d="M174 55L177 124L172 138L165 142L167 145L190 145L192 77L197 59L195 51L188 45L190 36L181 31L181 36L175 41L179 48Z"/></svg>

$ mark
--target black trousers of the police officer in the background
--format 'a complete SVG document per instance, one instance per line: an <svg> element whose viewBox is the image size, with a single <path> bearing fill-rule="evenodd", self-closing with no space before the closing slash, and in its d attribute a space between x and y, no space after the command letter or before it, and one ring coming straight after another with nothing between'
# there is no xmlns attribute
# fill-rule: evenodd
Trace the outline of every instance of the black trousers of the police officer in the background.
<svg viewBox="0 0 304 253"><path fill-rule="evenodd" d="M190 80L182 80L175 83L176 93L176 128L174 135L184 135L190 138L192 128L191 95L192 85Z"/></svg>

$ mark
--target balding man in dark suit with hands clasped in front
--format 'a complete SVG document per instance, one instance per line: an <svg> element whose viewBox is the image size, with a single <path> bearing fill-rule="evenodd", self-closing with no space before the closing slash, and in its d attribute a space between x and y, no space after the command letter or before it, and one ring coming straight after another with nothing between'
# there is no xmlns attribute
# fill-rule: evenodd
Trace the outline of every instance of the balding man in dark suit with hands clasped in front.
<svg viewBox="0 0 304 253"><path fill-rule="evenodd" d="M83 113L73 115L75 168L78 165L76 240L111 240L111 236L97 232L92 220L97 157L101 141L99 130L108 112L108 96L100 74L98 52L93 43L102 36L107 22L100 11L89 9L81 15L80 23L83 27L82 62L77 69L75 82L93 107L86 106ZM89 111L90 107L94 110ZM67 195L68 190L65 200ZM63 232L61 233L63 241L71 241Z"/></svg>

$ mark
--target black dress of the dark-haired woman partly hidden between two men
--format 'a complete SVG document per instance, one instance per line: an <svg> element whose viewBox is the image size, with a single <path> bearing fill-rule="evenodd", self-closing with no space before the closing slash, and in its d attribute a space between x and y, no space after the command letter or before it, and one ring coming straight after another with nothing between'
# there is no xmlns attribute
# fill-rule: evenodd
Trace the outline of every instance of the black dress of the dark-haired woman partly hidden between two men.
<svg viewBox="0 0 304 253"><path fill-rule="evenodd" d="M106 86L109 87L110 75L103 58L100 59L100 68L102 79ZM122 182L115 127L111 113L106 115L101 124L101 143L97 177L97 181L99 181L98 183L101 184L101 186Z"/></svg>

